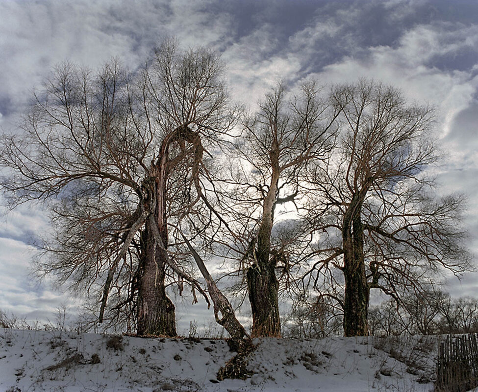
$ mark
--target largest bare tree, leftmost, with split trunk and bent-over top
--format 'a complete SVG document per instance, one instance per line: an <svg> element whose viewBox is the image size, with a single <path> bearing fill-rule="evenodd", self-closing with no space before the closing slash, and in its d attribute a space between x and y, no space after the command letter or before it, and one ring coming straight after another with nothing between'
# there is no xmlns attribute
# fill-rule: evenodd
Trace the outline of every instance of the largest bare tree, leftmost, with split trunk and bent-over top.
<svg viewBox="0 0 478 392"><path fill-rule="evenodd" d="M204 154L235 122L222 68L214 52L172 42L135 74L116 61L97 74L65 64L22 132L3 137L12 206L37 200L51 211L43 272L86 289L100 321L133 314L138 334L173 336L168 282L186 281L208 301L168 250L169 223L197 213Z"/></svg>

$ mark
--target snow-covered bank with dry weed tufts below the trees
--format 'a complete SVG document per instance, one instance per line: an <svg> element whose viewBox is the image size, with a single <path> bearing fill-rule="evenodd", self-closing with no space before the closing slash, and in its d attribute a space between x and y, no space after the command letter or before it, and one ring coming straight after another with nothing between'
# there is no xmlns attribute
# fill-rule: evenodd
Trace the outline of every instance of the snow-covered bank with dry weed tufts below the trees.
<svg viewBox="0 0 478 392"><path fill-rule="evenodd" d="M436 338L254 339L250 376L217 380L226 340L0 328L0 392L433 390Z"/></svg>

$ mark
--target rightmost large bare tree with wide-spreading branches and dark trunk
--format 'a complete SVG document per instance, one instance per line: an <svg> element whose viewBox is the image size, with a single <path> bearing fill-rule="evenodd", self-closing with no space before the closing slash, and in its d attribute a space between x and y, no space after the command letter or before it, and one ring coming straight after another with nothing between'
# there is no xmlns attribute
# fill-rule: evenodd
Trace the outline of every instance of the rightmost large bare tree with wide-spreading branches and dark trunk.
<svg viewBox="0 0 478 392"><path fill-rule="evenodd" d="M309 277L327 280L326 271L338 268L343 297L334 296L344 309L345 335L367 335L371 288L398 298L421 291L443 269L459 274L468 267L464 198L436 196L425 175L440 158L430 109L364 80L334 89L331 99L340 109L340 142L310 173L318 197L310 219L328 253Z"/></svg>

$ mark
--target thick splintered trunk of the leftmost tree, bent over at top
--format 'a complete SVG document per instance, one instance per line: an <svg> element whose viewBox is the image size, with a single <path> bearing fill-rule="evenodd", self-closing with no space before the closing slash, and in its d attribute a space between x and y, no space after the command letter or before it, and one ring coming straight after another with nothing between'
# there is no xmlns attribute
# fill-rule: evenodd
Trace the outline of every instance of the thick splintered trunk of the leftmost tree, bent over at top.
<svg viewBox="0 0 478 392"><path fill-rule="evenodd" d="M192 149L186 149L185 143ZM176 157L169 156L170 146L177 143L179 152ZM166 296L164 287L165 268L168 264L168 227L166 206L166 185L170 171L188 155L193 156L191 181L201 195L199 184L199 166L202 161L202 144L198 133L187 126L179 126L162 141L156 162L151 162L149 177L142 185L144 210L149 212L144 232L144 257L142 257L142 275L138 293L138 334L176 336L175 307ZM191 207L189 206L189 207ZM171 263L169 263L171 267ZM177 268L177 266L176 266ZM180 273L179 270L175 270ZM197 286L197 282L195 282ZM202 291L201 291L202 293ZM241 326L242 327L242 326ZM245 332L245 331L244 331ZM239 332L238 332L239 333Z"/></svg>

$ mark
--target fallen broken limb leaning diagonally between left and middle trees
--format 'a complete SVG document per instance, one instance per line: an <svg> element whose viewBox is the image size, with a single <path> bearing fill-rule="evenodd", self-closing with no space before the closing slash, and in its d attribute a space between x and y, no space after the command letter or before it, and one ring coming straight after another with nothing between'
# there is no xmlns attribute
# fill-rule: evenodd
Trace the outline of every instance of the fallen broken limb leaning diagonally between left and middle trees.
<svg viewBox="0 0 478 392"><path fill-rule="evenodd" d="M194 250L191 243L187 240L183 233L181 233L181 236L186 242L190 252L193 254L194 260L196 261L202 276L206 280L207 290L209 291L209 295L211 296L211 300L214 304L214 317L216 318L216 322L226 328L226 331L229 332L229 335L231 335L231 338L233 339L243 339L244 337L249 338L245 328L236 319L232 305L216 286L216 283L209 274L209 271L207 271L201 256ZM219 313L221 313L222 318L219 317Z"/></svg>

